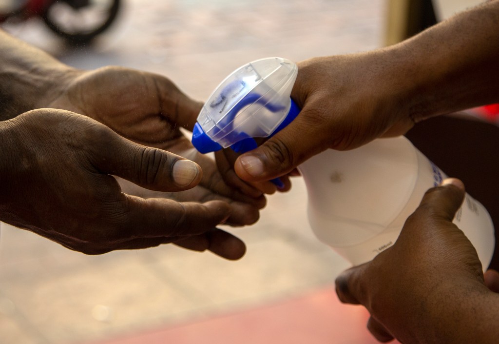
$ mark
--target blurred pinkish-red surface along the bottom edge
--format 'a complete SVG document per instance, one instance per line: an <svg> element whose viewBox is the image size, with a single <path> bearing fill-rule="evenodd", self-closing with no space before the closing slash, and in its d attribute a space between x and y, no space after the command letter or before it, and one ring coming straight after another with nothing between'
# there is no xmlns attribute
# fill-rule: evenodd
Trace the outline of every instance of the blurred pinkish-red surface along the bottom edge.
<svg viewBox="0 0 499 344"><path fill-rule="evenodd" d="M378 344L359 327L368 317L363 307L345 307L332 288L324 288L255 309L95 344Z"/></svg>

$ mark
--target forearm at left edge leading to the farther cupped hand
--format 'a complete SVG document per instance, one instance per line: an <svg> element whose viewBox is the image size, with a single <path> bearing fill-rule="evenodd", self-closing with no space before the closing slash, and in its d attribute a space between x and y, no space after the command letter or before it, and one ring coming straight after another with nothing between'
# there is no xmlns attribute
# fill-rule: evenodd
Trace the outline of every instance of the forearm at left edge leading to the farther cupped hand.
<svg viewBox="0 0 499 344"><path fill-rule="evenodd" d="M0 120L46 106L73 70L2 30L0 51Z"/></svg>

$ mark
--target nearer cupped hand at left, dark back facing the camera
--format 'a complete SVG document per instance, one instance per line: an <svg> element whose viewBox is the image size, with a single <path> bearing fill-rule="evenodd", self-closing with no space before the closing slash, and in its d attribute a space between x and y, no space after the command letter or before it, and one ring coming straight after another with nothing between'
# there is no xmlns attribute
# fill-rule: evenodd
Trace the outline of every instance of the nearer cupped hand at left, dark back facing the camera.
<svg viewBox="0 0 499 344"><path fill-rule="evenodd" d="M113 177L178 192L202 180L198 164L65 110L32 110L1 124L8 147L1 220L87 254L168 242L231 259L244 254L241 240L216 229L233 215L229 203L197 193L189 199L196 202L144 199L122 192Z"/></svg>

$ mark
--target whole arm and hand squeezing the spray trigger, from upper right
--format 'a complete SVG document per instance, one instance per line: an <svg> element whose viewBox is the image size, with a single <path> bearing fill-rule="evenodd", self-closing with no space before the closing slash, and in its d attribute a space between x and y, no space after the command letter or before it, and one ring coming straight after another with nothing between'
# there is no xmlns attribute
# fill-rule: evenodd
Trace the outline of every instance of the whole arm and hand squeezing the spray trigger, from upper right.
<svg viewBox="0 0 499 344"><path fill-rule="evenodd" d="M414 122L499 101L499 0L399 44L298 64L299 116L235 163L247 181L283 175L327 148L400 135ZM300 139L297 139L297 138Z"/></svg>

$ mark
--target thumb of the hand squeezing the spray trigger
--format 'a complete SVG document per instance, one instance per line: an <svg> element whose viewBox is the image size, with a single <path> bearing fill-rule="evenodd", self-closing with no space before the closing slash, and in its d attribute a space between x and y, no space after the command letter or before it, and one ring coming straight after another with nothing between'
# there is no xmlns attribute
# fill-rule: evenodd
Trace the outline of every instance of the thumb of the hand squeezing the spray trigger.
<svg viewBox="0 0 499 344"><path fill-rule="evenodd" d="M262 181L293 170L309 157L327 148L317 128L317 118L305 108L281 131L257 148L241 155L234 169L247 181Z"/></svg>

